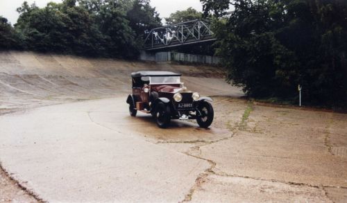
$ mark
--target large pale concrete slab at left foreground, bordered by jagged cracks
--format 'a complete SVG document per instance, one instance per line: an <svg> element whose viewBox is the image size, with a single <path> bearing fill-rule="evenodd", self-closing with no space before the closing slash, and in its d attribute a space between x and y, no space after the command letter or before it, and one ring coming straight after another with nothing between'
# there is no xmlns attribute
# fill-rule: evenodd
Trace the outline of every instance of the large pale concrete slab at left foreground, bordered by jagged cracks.
<svg viewBox="0 0 347 203"><path fill-rule="evenodd" d="M126 104L113 104L123 100L55 105L25 116L1 116L3 167L49 202L178 202L208 162L162 148L119 126L96 124L98 118L91 116L91 120L86 114L98 109L105 111L103 116L122 121L128 116ZM110 107L119 113L108 113ZM16 129L17 123L22 125Z"/></svg>

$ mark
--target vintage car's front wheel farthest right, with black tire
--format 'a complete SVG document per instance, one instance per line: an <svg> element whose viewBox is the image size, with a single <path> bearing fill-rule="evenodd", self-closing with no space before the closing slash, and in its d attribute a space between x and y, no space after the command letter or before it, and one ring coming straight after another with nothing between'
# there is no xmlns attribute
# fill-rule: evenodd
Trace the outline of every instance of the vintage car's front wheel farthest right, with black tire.
<svg viewBox="0 0 347 203"><path fill-rule="evenodd" d="M196 117L196 122L198 122L198 125L204 128L210 127L214 117L212 105L206 101L202 101L198 104L197 109L198 116Z"/></svg>

